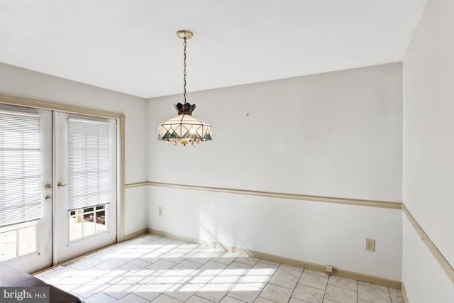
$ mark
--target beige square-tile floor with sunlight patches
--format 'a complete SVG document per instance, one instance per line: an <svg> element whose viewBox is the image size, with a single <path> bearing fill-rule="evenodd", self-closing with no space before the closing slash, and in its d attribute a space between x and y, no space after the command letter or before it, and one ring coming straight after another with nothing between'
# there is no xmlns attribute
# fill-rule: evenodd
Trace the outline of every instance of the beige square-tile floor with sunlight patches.
<svg viewBox="0 0 454 303"><path fill-rule="evenodd" d="M90 303L404 302L388 287L150 234L36 277Z"/></svg>

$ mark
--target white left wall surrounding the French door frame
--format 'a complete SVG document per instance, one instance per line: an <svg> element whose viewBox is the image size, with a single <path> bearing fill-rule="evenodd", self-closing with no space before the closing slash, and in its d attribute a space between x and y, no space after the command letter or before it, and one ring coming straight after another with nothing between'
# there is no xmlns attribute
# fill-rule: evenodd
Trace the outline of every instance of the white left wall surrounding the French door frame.
<svg viewBox="0 0 454 303"><path fill-rule="evenodd" d="M146 178L146 102L127 94L73 82L0 63L0 94L126 115L126 183ZM141 193L138 193L141 191ZM126 189L125 233L147 227L145 188Z"/></svg>

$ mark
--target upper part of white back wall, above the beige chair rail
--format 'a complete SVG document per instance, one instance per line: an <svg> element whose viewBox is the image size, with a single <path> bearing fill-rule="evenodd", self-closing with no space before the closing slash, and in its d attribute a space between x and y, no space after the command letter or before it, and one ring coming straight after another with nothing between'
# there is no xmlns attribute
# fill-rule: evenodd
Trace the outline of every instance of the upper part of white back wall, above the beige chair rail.
<svg viewBox="0 0 454 303"><path fill-rule="evenodd" d="M179 101L150 99L150 137ZM400 63L194 92L188 102L214 140L150 140L149 181L402 200Z"/></svg>

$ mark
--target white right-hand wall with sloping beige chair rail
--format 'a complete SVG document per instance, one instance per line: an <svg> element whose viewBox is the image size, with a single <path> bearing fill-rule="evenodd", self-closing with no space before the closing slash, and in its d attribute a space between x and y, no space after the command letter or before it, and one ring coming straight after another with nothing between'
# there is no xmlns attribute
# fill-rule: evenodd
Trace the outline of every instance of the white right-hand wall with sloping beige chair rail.
<svg viewBox="0 0 454 303"><path fill-rule="evenodd" d="M431 0L404 59L404 173L406 207L454 265L454 1ZM453 302L454 285L432 255L404 228L403 281L413 302ZM426 282L447 287L426 287ZM421 287L421 285L424 285Z"/></svg>

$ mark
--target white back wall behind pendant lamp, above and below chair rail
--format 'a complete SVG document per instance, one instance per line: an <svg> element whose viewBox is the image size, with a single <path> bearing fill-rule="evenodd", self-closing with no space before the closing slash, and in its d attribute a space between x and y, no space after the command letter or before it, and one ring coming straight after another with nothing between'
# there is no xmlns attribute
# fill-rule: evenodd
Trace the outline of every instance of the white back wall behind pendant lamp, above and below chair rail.
<svg viewBox="0 0 454 303"><path fill-rule="evenodd" d="M179 101L150 99L150 134ZM402 199L400 63L195 92L188 101L214 140L198 148L150 140L149 181ZM150 228L401 280L399 210L162 187L148 197ZM364 251L365 238L376 238L376 253Z"/></svg>

